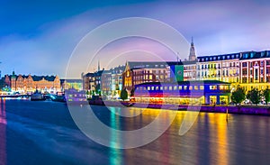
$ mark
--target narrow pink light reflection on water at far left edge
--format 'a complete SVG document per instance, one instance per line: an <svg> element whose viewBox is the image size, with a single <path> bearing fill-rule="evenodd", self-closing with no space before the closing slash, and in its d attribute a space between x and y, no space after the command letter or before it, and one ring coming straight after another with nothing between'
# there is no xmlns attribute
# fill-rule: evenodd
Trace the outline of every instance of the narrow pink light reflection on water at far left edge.
<svg viewBox="0 0 270 165"><path fill-rule="evenodd" d="M6 164L5 99L0 98L0 164Z"/></svg>

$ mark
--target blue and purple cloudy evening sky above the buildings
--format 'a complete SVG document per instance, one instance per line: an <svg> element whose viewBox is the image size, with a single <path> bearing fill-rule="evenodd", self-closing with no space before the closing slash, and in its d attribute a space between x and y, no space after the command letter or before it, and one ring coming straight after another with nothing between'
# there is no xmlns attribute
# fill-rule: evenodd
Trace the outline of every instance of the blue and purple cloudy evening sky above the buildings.
<svg viewBox="0 0 270 165"><path fill-rule="evenodd" d="M269 8L266 0L4 1L0 2L0 70L2 76L14 70L63 78L72 50L86 33L126 17L157 19L187 41L193 36L197 56L270 50ZM122 46L166 52L153 45L138 39L118 41L115 52L125 50ZM106 66L101 59L101 68ZM92 67L96 69L97 62Z"/></svg>

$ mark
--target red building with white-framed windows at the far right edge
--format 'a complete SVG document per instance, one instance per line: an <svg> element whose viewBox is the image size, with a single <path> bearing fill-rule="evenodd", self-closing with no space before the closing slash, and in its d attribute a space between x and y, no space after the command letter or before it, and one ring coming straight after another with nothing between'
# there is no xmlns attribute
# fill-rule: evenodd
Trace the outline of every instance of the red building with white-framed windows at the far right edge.
<svg viewBox="0 0 270 165"><path fill-rule="evenodd" d="M240 85L247 90L270 88L270 51L242 52L239 75Z"/></svg>

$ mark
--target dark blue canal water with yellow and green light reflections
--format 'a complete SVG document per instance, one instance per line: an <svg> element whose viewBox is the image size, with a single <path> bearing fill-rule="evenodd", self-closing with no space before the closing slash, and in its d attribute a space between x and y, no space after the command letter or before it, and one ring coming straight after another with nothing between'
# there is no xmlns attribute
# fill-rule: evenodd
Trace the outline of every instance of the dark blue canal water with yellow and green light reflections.
<svg viewBox="0 0 270 165"><path fill-rule="evenodd" d="M186 112L157 140L134 149L114 149L85 136L64 103L0 100L0 165L2 164L269 164L270 117L200 113L180 136ZM117 109L117 107L115 107ZM138 109L130 108L130 113ZM94 114L104 124L133 130L151 123L160 110L145 109L125 120L110 117L104 106ZM171 111L166 111L162 120ZM115 126L117 125L117 126ZM94 125L93 125L94 126ZM141 137L144 138L144 137Z"/></svg>

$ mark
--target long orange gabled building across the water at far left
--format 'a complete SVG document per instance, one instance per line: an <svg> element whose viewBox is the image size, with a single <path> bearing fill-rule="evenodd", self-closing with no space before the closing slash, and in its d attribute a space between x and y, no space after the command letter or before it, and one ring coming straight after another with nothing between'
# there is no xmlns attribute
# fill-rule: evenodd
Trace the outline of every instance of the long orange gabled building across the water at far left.
<svg viewBox="0 0 270 165"><path fill-rule="evenodd" d="M36 89L56 93L61 89L58 76L17 76L13 72L12 75L5 75L4 83L12 91L20 93L34 92Z"/></svg>

